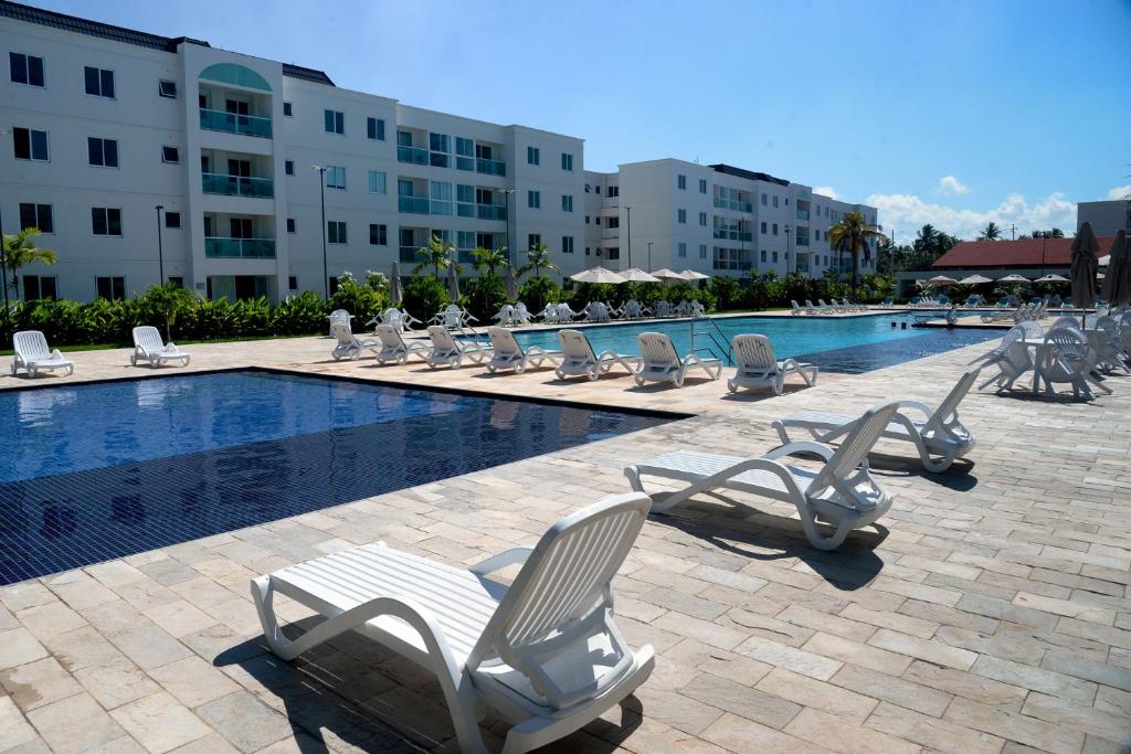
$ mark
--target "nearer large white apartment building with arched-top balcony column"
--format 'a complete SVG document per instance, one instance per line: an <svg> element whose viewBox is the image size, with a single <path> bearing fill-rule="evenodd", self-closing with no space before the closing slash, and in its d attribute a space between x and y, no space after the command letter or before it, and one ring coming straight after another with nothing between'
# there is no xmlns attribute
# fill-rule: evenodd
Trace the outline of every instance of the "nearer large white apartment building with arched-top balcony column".
<svg viewBox="0 0 1131 754"><path fill-rule="evenodd" d="M432 235L585 267L581 139L7 0L0 54L0 219L59 255L20 270L25 297L128 296L162 267L209 297L322 293L407 275Z"/></svg>

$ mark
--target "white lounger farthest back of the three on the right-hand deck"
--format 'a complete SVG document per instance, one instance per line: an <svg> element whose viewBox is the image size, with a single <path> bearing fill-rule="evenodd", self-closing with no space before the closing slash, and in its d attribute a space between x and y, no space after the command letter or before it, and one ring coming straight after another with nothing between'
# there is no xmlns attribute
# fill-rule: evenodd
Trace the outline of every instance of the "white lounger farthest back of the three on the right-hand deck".
<svg viewBox="0 0 1131 754"><path fill-rule="evenodd" d="M900 400L899 410L881 436L914 443L923 468L927 471L946 471L956 458L962 458L974 449L974 433L959 421L958 405L970 391L981 371L981 366L966 370L938 408L932 409L918 400ZM923 418L912 418L904 413L905 409L916 410ZM802 411L777 419L771 426L777 430L783 443L789 442L789 428L808 430L817 441L827 443L851 432L858 421L858 417L849 414ZM939 457L939 460L934 457Z"/></svg>

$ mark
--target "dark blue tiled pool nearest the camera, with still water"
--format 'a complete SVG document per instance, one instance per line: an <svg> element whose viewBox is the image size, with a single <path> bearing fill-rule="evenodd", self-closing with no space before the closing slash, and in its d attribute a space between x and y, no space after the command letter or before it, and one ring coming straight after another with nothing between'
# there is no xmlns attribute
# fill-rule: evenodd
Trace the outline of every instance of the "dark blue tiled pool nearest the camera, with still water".
<svg viewBox="0 0 1131 754"><path fill-rule="evenodd" d="M0 584L671 417L225 372L0 392Z"/></svg>

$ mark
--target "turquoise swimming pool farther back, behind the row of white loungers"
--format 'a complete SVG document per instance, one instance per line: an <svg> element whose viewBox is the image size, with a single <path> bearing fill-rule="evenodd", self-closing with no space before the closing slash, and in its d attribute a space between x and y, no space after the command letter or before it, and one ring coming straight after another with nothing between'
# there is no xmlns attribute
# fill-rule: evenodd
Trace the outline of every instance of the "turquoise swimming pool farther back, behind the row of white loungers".
<svg viewBox="0 0 1131 754"><path fill-rule="evenodd" d="M722 333L716 331L716 338L724 345L729 345L731 338L736 335L757 332L770 339L778 358L804 358L822 371L848 374L870 372L1001 337L1000 332L986 330L912 328L915 315L904 312L873 317L716 317L711 320L722 330ZM690 328L688 320L650 320L587 327L585 333L598 353L612 349L622 354L639 354L638 333L666 332L676 350L685 354L691 350ZM715 344L701 335L706 331L714 331L710 322L697 321L698 353L706 355L702 347L707 346L718 355ZM560 348L555 330L518 332L516 337L524 346Z"/></svg>

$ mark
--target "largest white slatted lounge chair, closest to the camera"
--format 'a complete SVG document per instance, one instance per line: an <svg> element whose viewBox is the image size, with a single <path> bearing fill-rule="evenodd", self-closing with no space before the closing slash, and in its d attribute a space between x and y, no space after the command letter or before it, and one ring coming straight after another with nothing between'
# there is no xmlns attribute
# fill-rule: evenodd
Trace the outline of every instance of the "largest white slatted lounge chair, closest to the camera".
<svg viewBox="0 0 1131 754"><path fill-rule="evenodd" d="M382 543L292 565L251 582L271 651L291 660L348 631L437 675L459 749L485 754L483 708L513 723L503 752L544 746L621 703L655 666L613 619L612 580L644 526L648 499L616 495L560 520L534 547L469 569ZM491 577L521 564L508 587ZM278 592L326 619L287 641Z"/></svg>

